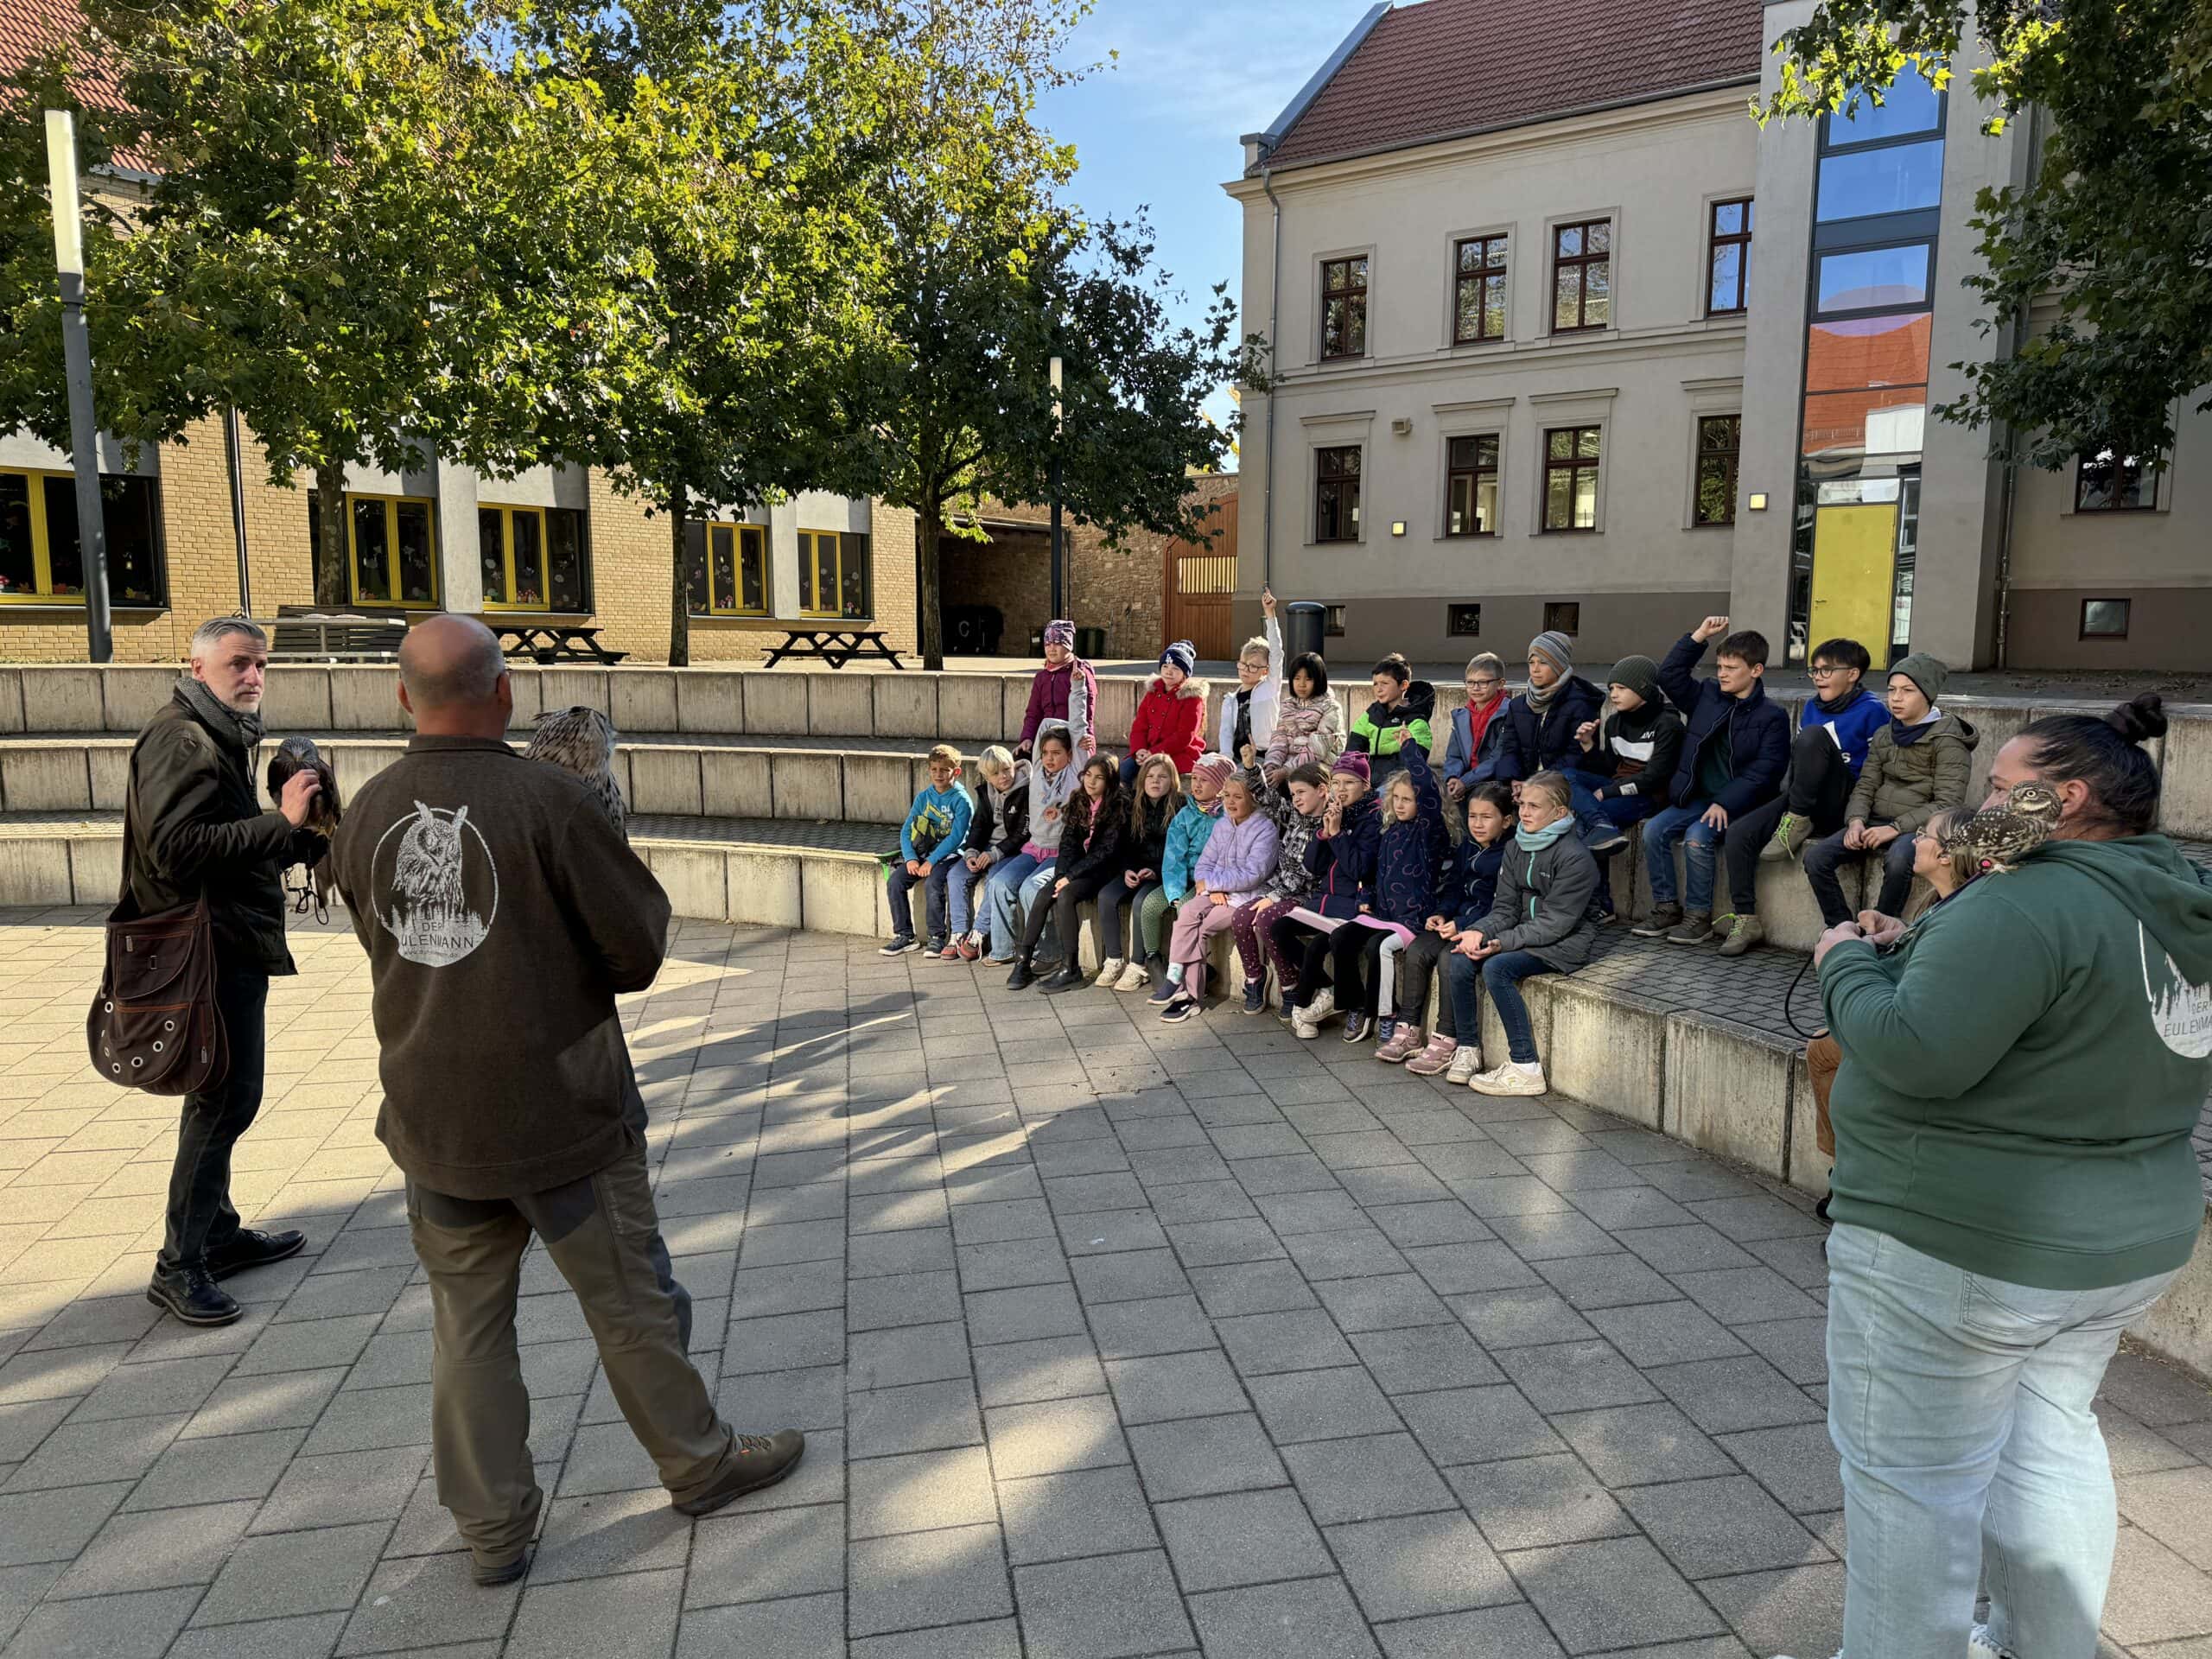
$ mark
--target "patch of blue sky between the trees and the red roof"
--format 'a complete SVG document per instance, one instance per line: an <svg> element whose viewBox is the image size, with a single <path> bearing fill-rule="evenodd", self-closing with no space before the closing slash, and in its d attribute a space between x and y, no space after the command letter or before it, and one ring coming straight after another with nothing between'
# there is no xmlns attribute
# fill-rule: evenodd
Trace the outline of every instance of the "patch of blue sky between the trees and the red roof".
<svg viewBox="0 0 2212 1659"><path fill-rule="evenodd" d="M1276 117L1369 0L1097 0L1071 62L1119 60L1046 97L1051 133L1075 144L1075 201L1093 215L1150 208L1159 263L1197 321L1208 290L1241 299L1237 139ZM1241 319L1241 332L1265 319ZM1217 418L1228 398L1208 405Z"/></svg>

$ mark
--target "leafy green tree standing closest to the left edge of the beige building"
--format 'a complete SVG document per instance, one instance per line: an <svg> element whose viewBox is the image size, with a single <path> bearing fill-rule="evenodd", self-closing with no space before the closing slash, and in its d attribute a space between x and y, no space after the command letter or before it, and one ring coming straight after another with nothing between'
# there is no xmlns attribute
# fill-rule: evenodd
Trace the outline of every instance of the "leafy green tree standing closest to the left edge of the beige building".
<svg viewBox="0 0 2212 1659"><path fill-rule="evenodd" d="M1075 157L1037 126L1035 100L1073 73L1060 53L1086 9L914 0L878 13L876 261L860 327L794 387L810 438L792 476L916 513L927 668L945 666L940 538L980 538L960 509L984 498L1046 500L1055 453L1066 511L1108 538L1212 533L1188 473L1219 465L1230 434L1201 405L1248 354L1225 285L1201 325L1175 325L1141 221L1088 223L1062 201Z"/></svg>

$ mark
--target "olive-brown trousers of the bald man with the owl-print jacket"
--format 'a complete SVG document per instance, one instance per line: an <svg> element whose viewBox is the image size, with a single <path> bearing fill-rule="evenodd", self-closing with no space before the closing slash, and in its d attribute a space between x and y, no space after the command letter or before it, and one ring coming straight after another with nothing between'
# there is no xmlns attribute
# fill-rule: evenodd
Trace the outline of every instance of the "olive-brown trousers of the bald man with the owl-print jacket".
<svg viewBox="0 0 2212 1659"><path fill-rule="evenodd" d="M526 1548L544 1506L515 1347L533 1232L582 1303L615 1402L670 1495L697 1498L737 1458L737 1438L684 1352L688 1298L668 1270L641 1146L597 1175L520 1199L456 1199L409 1181L407 1230L429 1272L438 1502L478 1564L507 1564Z"/></svg>

